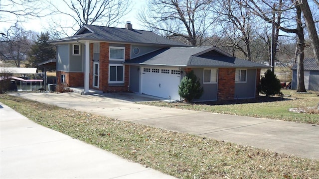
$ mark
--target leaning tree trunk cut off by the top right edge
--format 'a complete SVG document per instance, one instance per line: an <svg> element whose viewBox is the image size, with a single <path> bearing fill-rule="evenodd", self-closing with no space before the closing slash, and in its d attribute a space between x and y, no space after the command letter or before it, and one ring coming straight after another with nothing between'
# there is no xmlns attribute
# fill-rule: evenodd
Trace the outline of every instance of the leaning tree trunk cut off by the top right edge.
<svg viewBox="0 0 319 179"><path fill-rule="evenodd" d="M314 18L310 11L308 1L307 0L298 0L298 1L301 5L301 9L306 20L306 26L308 28L311 45L314 51L314 56L317 61L317 64L319 65L319 38L318 38L318 33L316 30Z"/></svg>

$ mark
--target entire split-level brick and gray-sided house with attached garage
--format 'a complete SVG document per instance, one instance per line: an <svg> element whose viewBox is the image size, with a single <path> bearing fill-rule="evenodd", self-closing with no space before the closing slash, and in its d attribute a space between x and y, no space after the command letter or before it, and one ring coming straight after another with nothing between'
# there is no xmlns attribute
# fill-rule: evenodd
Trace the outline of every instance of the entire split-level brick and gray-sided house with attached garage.
<svg viewBox="0 0 319 179"><path fill-rule="evenodd" d="M179 100L178 85L193 70L204 94L199 101L254 98L258 63L216 47L189 47L154 32L84 25L57 45L57 79L70 87L104 92L133 91Z"/></svg>

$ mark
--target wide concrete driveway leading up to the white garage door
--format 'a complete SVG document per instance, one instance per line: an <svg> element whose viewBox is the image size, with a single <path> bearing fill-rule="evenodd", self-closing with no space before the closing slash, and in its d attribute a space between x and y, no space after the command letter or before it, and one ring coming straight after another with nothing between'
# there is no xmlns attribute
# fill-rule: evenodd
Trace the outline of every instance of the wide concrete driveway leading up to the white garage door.
<svg viewBox="0 0 319 179"><path fill-rule="evenodd" d="M319 125L148 106L134 102L157 99L133 93L12 95L118 120L319 160Z"/></svg>

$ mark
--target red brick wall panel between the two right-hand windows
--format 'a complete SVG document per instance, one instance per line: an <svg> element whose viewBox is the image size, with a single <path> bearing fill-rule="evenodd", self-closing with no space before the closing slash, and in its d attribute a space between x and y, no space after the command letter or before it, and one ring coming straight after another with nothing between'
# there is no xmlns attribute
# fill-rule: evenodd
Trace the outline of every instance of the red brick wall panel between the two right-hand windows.
<svg viewBox="0 0 319 179"><path fill-rule="evenodd" d="M234 99L235 73L236 73L236 69L234 69L234 68L220 68L220 69L218 69L217 100Z"/></svg>

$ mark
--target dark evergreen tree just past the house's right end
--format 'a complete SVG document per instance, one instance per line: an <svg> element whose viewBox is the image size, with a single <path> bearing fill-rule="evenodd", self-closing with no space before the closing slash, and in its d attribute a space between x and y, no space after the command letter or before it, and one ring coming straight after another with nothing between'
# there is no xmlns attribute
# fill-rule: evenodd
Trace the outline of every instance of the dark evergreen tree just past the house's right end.
<svg viewBox="0 0 319 179"><path fill-rule="evenodd" d="M280 81L277 79L275 73L268 69L265 76L260 79L259 92L269 96L279 94L280 89Z"/></svg>

